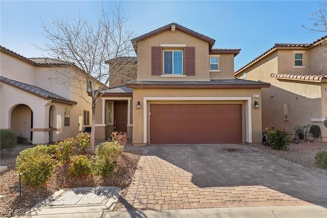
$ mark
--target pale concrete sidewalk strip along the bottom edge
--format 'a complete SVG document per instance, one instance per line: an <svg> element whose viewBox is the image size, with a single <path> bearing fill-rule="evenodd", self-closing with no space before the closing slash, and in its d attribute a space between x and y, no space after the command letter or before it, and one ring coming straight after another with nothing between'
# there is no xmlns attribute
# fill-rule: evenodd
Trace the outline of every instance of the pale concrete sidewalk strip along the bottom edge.
<svg viewBox="0 0 327 218"><path fill-rule="evenodd" d="M90 209L90 208L89 208ZM96 209L96 208L94 208ZM121 211L101 212L89 210L76 213L69 210L57 210L56 214L31 215L29 217L265 217L265 218L325 218L327 209L322 206L268 206L268 207L234 207L234 208L210 208L210 209L181 209L181 210L144 210L144 211Z"/></svg>

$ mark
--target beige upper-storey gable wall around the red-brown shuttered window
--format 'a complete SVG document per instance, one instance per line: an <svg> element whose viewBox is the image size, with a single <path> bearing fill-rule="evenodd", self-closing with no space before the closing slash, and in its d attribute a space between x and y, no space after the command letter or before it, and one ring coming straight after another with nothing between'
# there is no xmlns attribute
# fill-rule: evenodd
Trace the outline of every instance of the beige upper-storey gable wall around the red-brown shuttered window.
<svg viewBox="0 0 327 218"><path fill-rule="evenodd" d="M151 75L151 47L160 47L161 44L185 44L186 47L195 47L195 76L160 77ZM166 30L138 42L137 46L137 80L209 80L208 42L176 29L174 33ZM167 48L169 49L169 48ZM170 48L172 49L172 48ZM176 47L173 47L176 49ZM181 47L180 49L184 49ZM184 52L183 52L183 55ZM184 60L184 57L183 57ZM185 68L183 69L183 72Z"/></svg>

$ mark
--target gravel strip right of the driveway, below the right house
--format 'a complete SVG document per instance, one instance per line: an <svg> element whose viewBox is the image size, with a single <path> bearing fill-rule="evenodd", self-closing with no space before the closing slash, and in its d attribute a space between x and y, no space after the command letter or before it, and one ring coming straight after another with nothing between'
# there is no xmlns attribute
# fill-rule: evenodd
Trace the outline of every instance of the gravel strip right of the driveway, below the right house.
<svg viewBox="0 0 327 218"><path fill-rule="evenodd" d="M298 144L290 143L289 150L287 151L274 150L271 147L265 145L252 146L279 158L283 158L298 165L308 167L327 176L327 169L320 169L315 165L315 156L317 152L319 150L327 150L327 142L306 142L305 140L302 140Z"/></svg>

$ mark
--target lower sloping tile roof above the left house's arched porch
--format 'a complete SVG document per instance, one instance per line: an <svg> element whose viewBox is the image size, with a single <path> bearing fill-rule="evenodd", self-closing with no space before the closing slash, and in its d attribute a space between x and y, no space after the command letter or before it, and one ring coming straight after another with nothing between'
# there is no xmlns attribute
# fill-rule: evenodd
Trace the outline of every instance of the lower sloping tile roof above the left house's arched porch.
<svg viewBox="0 0 327 218"><path fill-rule="evenodd" d="M10 84L18 89L24 90L26 92L32 93L34 95L37 95L41 98L48 99L48 100L53 100L53 101L58 101L58 102L65 102L68 104L77 104L76 101L69 100L67 98L61 97L57 94L54 94L52 92L43 90L35 85L30 85L24 82L20 82L17 80L13 79L8 79L6 77L0 76L0 79L2 82L5 82L7 84Z"/></svg>

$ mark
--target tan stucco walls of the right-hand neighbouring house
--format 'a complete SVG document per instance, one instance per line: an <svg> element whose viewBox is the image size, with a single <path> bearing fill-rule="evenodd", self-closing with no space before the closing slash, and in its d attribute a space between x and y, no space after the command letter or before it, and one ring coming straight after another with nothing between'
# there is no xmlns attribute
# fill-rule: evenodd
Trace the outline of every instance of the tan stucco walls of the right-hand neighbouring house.
<svg viewBox="0 0 327 218"><path fill-rule="evenodd" d="M262 90L262 127L269 129L284 129L290 134L294 132L294 127L308 124L319 125L322 136L326 140L326 130L323 129L322 122L316 121L324 118L327 113L327 96L323 88L324 83L300 82L272 78L270 75L279 74L318 74L324 67L310 68L313 56L309 60L312 51L306 50L303 53L303 65L305 68L294 67L294 53L290 50L277 50L267 55L260 61L255 62L250 67L243 69L237 74L238 78L254 81L269 82L270 88ZM314 52L318 52L316 49ZM278 56L277 56L278 55ZM323 59L323 58L322 58ZM314 62L321 63L321 57ZM327 62L327 61L326 61ZM323 64L321 63L321 66ZM315 72L317 70L317 72ZM326 72L326 71L324 71ZM288 119L284 119L284 104L288 107Z"/></svg>

